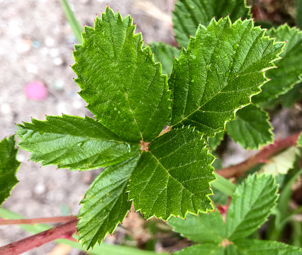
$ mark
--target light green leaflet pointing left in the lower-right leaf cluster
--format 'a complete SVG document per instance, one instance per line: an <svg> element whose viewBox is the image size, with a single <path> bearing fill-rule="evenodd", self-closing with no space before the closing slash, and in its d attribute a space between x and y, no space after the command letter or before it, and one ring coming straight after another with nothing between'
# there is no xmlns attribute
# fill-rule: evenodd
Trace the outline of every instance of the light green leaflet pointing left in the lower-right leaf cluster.
<svg viewBox="0 0 302 255"><path fill-rule="evenodd" d="M200 214L199 217L188 214L185 221L171 217L167 223L174 232L195 242L220 244L226 235L225 224L218 212Z"/></svg>

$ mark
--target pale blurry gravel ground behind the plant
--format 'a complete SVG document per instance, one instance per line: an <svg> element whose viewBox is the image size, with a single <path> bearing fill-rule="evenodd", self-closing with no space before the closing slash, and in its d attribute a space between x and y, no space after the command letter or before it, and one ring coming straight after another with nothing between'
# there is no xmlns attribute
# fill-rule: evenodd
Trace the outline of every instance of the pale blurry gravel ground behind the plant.
<svg viewBox="0 0 302 255"><path fill-rule="evenodd" d="M173 0L69 0L80 24L91 26L95 14L105 9L106 2L123 16L131 13L142 30L145 42L162 41L175 44L171 25ZM151 2L153 5L151 6ZM76 42L59 0L0 0L0 138L14 134L16 123L30 118L45 119L47 115L61 113L84 117L90 115L86 102L77 94L75 74L69 67L73 42ZM152 13L148 10L153 9ZM160 10L158 9L160 8ZM153 17L156 16L156 17ZM30 100L25 86L42 82L48 91L45 99ZM287 112L278 115L274 125L286 121ZM288 128L278 131L287 136ZM226 153L226 164L237 163L249 157L236 144ZM231 155L237 158L229 160ZM18 185L3 207L29 218L52 217L66 213L76 215L79 202L89 184L100 170L69 172L55 166L40 168L39 163L28 161L30 153L20 151L22 162L18 171ZM0 246L28 236L17 226L0 227ZM48 254L56 244L49 243L27 255ZM67 254L67 253L65 253ZM77 255L72 250L69 254Z"/></svg>

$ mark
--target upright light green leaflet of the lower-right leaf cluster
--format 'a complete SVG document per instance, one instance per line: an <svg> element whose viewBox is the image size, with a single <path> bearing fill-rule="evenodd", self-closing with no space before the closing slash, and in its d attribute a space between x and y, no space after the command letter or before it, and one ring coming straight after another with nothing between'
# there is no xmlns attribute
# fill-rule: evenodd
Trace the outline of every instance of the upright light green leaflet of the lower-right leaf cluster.
<svg viewBox="0 0 302 255"><path fill-rule="evenodd" d="M226 221L227 238L233 241L257 230L266 221L277 197L272 175L250 175L232 196Z"/></svg>

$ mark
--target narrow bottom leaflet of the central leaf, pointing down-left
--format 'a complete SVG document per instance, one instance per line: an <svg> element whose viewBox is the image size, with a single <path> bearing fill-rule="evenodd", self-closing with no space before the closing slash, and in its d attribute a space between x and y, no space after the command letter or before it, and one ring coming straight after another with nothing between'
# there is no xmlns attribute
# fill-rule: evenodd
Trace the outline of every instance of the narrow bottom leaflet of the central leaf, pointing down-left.
<svg viewBox="0 0 302 255"><path fill-rule="evenodd" d="M139 158L137 153L123 163L106 168L86 192L77 227L87 250L96 242L101 243L107 233L112 234L131 209L132 202L128 202L125 188Z"/></svg>

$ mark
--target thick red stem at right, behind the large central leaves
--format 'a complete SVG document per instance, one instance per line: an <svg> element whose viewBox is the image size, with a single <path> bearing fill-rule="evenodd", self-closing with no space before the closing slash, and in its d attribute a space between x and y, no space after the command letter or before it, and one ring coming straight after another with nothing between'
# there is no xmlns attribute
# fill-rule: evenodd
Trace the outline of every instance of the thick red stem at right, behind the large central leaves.
<svg viewBox="0 0 302 255"><path fill-rule="evenodd" d="M282 140L276 140L273 144L267 145L259 153L250 157L246 161L235 166L216 170L216 172L226 179L231 177L238 178L256 165L267 162L273 154L279 153L290 146L295 146L299 135L300 133L296 133Z"/></svg>

